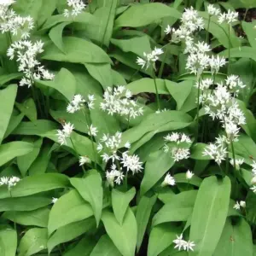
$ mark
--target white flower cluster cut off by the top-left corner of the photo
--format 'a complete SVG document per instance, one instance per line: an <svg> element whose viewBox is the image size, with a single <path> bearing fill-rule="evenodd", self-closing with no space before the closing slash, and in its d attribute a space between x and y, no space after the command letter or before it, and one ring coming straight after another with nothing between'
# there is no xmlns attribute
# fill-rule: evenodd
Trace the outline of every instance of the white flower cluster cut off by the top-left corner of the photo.
<svg viewBox="0 0 256 256"><path fill-rule="evenodd" d="M18 36L21 39L29 38L30 31L34 27L34 22L31 16L21 17L17 15L10 6L15 1L0 2L0 31L11 32L13 36Z"/></svg>

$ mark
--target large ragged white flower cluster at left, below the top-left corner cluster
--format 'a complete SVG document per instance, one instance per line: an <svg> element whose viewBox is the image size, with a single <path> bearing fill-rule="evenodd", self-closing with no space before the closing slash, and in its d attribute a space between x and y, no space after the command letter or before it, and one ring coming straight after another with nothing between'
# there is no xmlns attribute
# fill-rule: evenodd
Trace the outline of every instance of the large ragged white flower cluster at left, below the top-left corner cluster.
<svg viewBox="0 0 256 256"><path fill-rule="evenodd" d="M37 60L37 55L44 51L44 43L37 41L32 43L27 40L17 41L9 46L7 55L10 60L17 57L19 63L19 71L24 73L23 79L20 80L20 86L32 86L33 79L54 79L54 75L41 65Z"/></svg>

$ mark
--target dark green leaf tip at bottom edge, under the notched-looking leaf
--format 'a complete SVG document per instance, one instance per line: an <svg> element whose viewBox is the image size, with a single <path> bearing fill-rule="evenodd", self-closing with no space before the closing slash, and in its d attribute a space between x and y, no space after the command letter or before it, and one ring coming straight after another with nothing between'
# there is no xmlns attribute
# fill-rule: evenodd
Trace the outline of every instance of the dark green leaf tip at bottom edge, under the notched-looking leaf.
<svg viewBox="0 0 256 256"><path fill-rule="evenodd" d="M108 235L104 235L97 242L96 247L93 248L90 256L121 256L117 247L114 246L113 241Z"/></svg>

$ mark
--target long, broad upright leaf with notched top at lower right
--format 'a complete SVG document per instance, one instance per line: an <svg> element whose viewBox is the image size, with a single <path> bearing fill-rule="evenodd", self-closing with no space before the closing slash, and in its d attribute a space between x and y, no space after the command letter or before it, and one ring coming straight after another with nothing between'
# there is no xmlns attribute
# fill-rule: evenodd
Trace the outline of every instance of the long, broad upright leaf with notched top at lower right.
<svg viewBox="0 0 256 256"><path fill-rule="evenodd" d="M230 178L207 177L201 183L192 213L190 241L198 256L211 256L224 229L230 203ZM190 253L189 253L190 255ZM191 253L191 255L193 255Z"/></svg>

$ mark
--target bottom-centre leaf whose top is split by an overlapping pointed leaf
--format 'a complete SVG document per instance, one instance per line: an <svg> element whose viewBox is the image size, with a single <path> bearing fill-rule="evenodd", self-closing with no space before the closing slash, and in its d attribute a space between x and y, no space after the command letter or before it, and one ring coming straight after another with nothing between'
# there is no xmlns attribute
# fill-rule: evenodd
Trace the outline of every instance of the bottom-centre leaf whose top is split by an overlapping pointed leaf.
<svg viewBox="0 0 256 256"><path fill-rule="evenodd" d="M137 241L137 222L133 212L128 208L122 225L116 220L112 212L102 212L102 222L113 241L113 244L124 256L134 256Z"/></svg>

